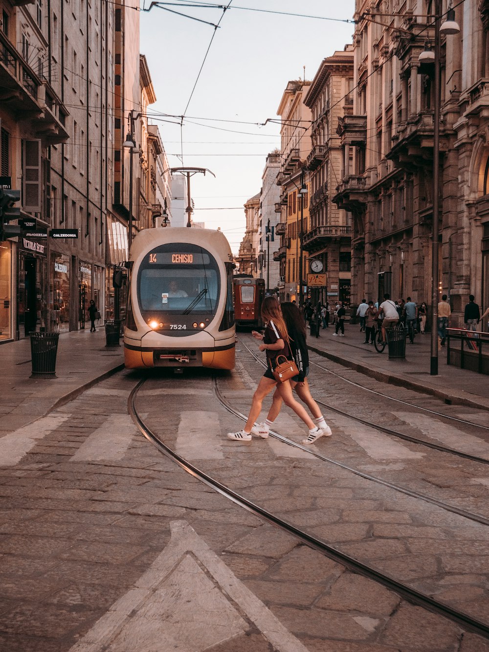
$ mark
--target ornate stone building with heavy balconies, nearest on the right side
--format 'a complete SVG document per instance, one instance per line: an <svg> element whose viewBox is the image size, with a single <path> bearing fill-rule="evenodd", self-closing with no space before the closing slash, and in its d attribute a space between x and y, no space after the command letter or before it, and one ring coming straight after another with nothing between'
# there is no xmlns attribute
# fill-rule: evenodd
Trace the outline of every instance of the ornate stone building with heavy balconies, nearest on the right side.
<svg viewBox="0 0 489 652"><path fill-rule="evenodd" d="M426 39L434 38L433 4L357 0L353 115L338 130L345 170L334 201L353 215L356 301L376 299L379 273L388 272L394 299L411 295L431 309L432 290L447 293L452 325L462 325L469 294L489 304L489 3L456 5L461 32L441 37L435 197L434 89L430 70L419 64ZM434 201L438 288L431 280Z"/></svg>

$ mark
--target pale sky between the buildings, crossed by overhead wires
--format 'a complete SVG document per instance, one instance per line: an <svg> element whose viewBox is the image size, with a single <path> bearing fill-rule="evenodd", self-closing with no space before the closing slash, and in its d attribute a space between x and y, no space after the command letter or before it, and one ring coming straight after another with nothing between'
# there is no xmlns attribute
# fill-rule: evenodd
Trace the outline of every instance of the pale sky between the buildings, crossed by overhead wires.
<svg viewBox="0 0 489 652"><path fill-rule="evenodd" d="M144 1L149 7L151 0ZM168 0L165 9L141 11L140 50L156 95L149 122L160 128L170 167L215 174L192 177L193 218L224 231L237 253L243 205L261 188L267 154L280 149L276 111L287 83L304 72L312 80L325 57L351 43L355 3L232 0L224 15L219 8L191 6L204 2L213 0ZM278 124L259 125L267 119Z"/></svg>

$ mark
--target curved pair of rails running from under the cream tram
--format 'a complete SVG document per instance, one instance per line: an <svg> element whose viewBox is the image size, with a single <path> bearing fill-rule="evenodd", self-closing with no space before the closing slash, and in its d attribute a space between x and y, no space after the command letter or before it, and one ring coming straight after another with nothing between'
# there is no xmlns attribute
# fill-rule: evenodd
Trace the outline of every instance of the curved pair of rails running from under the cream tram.
<svg viewBox="0 0 489 652"><path fill-rule="evenodd" d="M366 563L362 563L361 561L358 561L357 559L349 556L348 554L344 554L337 548L334 548L333 546L308 534L300 527L296 527L292 523L280 518L280 516L277 516L276 514L273 514L272 512L269 512L266 509L259 507L259 505L257 505L256 503L246 499L246 497L235 492L230 487L226 486L226 484L223 484L222 482L218 481L217 479L215 479L215 477L212 477L208 473L205 473L205 471L202 471L200 468L194 466L194 464L191 464L190 462L185 460L185 458L183 458L181 455L172 451L170 447L168 447L168 445L166 445L164 441L162 441L155 434L155 432L153 432L153 430L149 428L149 426L141 418L141 415L138 413L138 409L136 408L136 399L138 397L138 392L140 391L144 383L145 383L145 379L141 380L130 393L130 396L128 398L128 412L130 414L130 417L133 419L136 426L138 426L141 434L143 434L144 437L146 437L151 443L153 443L153 445L155 445L156 448L160 452L162 452L162 454L166 455L168 458L173 460L175 464L179 465L186 473L189 473L196 479L199 479L201 482L205 483L207 486L213 488L213 490L218 492L220 495L226 497L226 499L229 499L230 501L235 503L235 505L238 505L239 507L243 507L243 509L246 509L248 512L251 512L252 514L258 516L259 518L261 518L267 523L280 527L280 529L286 531L290 535L293 535L299 541L310 546L311 548L314 548L314 550L321 552L321 554L329 557L330 559L333 559L337 563L342 564L344 567L348 568L349 570L353 572L357 572L358 574L361 574L363 576L366 576L367 578L370 578L378 582L379 584L385 586L387 589L391 591L394 591L395 593L400 595L400 597L408 600L409 602L412 602L413 604L422 606L423 608L426 608L426 610L429 610L430 612L434 612L436 614L442 615L443 617L446 617L447 619L450 619L451 621L453 621L454 623L462 627L462 629L466 629L468 631L474 632L475 634L478 634L479 636L489 639L489 625L487 623L484 623L478 620L477 618L472 617L471 615L467 614L462 610L457 610L455 608L452 608L448 604L436 600L430 597L429 595L422 593L421 591L417 591L416 589L413 589L413 587L409 586L408 584L405 584L404 582L399 582L398 580L393 579L389 575L379 572L374 567L371 567ZM214 379L214 387L215 387L216 397L218 398L222 406L224 406L228 410L231 410L233 414L240 416L241 418L244 418L243 415L233 410L233 408L231 408L231 406L229 406L229 404L227 404L226 401L222 398L217 387L216 379ZM322 458L325 461L328 462L333 461L324 458L320 454L315 454L313 451L310 451L310 449L305 449L305 447L302 447L301 445L298 445L290 440L287 440L285 437L280 437L278 435L275 436L280 438L282 441L285 441L289 445L294 445L304 450L307 450L307 452L309 452L310 454ZM339 464L339 463L334 462L334 464ZM344 465L339 465L339 466L348 469L348 467ZM359 473L358 471L355 471L355 469L348 469L348 470L353 471L353 473L357 473L358 475L362 475L366 479L380 482L385 486L390 486L389 483L378 481L378 479L368 477L364 474ZM395 489L394 486L391 486L391 488ZM398 488L398 490L402 490L402 489ZM415 496L415 494L413 494L412 492L408 492L407 490L402 490L402 491L404 493L408 493L410 496L420 497L422 499L428 500L436 504L439 507L443 507L443 503L438 503L437 501L433 501L428 497L422 497L421 495ZM450 511L456 511L450 506L445 506L445 507ZM483 522L479 517L468 514L468 512L464 514L461 511L457 511L457 513L462 516L466 516L466 518L471 518L472 520L477 520L481 523ZM485 520L484 520L484 524L487 524Z"/></svg>

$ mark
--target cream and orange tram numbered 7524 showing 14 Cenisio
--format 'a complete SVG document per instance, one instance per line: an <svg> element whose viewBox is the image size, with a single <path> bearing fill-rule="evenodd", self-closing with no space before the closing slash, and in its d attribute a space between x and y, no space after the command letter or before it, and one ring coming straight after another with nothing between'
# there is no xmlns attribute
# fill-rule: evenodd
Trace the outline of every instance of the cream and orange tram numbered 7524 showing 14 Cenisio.
<svg viewBox="0 0 489 652"><path fill-rule="evenodd" d="M126 368L234 368L235 265L223 233L143 229L126 264Z"/></svg>

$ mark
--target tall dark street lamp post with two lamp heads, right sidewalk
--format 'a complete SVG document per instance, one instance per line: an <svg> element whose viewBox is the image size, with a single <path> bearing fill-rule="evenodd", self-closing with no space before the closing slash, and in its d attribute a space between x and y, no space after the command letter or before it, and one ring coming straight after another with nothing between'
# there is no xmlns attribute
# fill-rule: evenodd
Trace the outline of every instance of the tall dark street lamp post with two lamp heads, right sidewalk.
<svg viewBox="0 0 489 652"><path fill-rule="evenodd" d="M432 320L431 320L431 360L430 375L438 374L438 187L439 187L439 121L441 117L441 45L440 35L458 34L460 27L455 22L455 12L449 6L447 20L441 22L441 0L435 5L435 50L432 53L429 43L419 55L421 65L434 63L434 106L433 106L433 224L432 224Z"/></svg>

